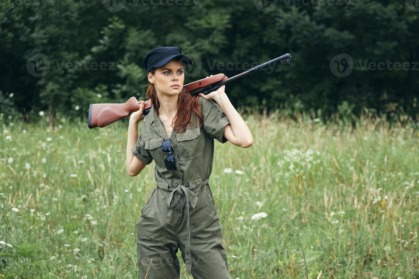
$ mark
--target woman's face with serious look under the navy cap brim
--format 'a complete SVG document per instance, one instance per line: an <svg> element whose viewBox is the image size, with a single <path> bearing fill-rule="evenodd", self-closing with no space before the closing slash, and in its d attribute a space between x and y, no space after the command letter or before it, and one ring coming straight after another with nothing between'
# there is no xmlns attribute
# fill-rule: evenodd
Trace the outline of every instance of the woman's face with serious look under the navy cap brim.
<svg viewBox="0 0 419 279"><path fill-rule="evenodd" d="M157 68L154 76L151 73L148 74L148 80L154 83L156 91L166 95L180 94L184 79L184 64L175 59ZM175 84L178 86L174 86Z"/></svg>

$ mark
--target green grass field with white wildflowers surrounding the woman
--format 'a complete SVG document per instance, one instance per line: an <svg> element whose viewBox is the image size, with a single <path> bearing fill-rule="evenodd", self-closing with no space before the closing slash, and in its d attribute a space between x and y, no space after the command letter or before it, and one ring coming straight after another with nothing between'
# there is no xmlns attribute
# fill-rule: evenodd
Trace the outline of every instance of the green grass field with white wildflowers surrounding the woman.
<svg viewBox="0 0 419 279"><path fill-rule="evenodd" d="M249 114L250 148L215 141L210 186L232 278L419 278L417 131L292 116ZM154 162L127 175L127 125L5 122L0 277L137 278Z"/></svg>

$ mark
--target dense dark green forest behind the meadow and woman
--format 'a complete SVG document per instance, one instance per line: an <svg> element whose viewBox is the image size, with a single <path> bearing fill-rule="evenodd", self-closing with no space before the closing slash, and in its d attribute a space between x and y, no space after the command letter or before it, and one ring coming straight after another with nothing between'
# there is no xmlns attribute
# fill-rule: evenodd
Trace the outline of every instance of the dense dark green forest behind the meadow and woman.
<svg viewBox="0 0 419 279"><path fill-rule="evenodd" d="M90 103L143 100L145 55L178 46L194 61L185 84L292 55L227 84L236 108L419 118L416 2L3 0L0 112L53 121L86 117Z"/></svg>

